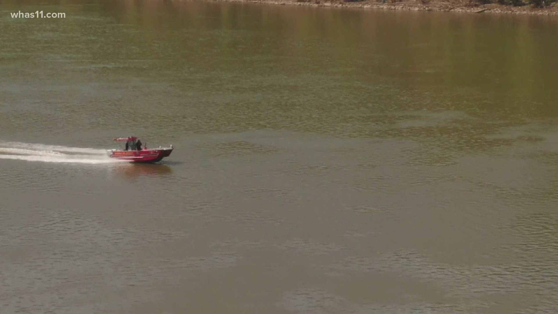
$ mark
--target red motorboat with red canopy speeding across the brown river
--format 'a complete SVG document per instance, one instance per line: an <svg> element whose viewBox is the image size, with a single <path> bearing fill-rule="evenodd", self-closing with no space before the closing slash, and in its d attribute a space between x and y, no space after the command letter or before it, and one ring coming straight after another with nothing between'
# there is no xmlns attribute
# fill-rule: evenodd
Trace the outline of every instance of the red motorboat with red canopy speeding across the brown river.
<svg viewBox="0 0 558 314"><path fill-rule="evenodd" d="M107 155L110 158L128 160L132 163L157 163L163 158L168 157L174 148L170 145L169 148L155 148L148 149L147 145L143 145L136 136L117 137L115 141L126 142L126 147L123 150L108 149Z"/></svg>

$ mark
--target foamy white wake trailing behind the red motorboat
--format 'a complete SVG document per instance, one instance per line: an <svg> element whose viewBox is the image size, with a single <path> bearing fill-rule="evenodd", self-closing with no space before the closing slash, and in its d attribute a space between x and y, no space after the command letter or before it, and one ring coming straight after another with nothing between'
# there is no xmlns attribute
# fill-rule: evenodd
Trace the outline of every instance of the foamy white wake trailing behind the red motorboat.
<svg viewBox="0 0 558 314"><path fill-rule="evenodd" d="M2 141L0 141L0 159L80 164L122 162L122 160L109 158L104 149Z"/></svg>

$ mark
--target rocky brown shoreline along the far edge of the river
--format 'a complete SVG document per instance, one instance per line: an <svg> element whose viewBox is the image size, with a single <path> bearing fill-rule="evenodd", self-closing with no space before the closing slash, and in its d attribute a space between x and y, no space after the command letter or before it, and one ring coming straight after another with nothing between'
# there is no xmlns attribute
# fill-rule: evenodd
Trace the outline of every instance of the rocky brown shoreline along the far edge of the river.
<svg viewBox="0 0 558 314"><path fill-rule="evenodd" d="M416 0L382 3L364 0L359 2L335 2L324 0L300 1L300 0L206 0L215 2L242 2L261 4L281 4L311 7L340 7L340 8L374 8L408 11L446 11L446 12L469 12L469 13L508 13L527 15L558 15L558 6L535 7L530 4L524 6L512 6L503 4L478 4L473 6L458 6L450 2L422 4Z"/></svg>

